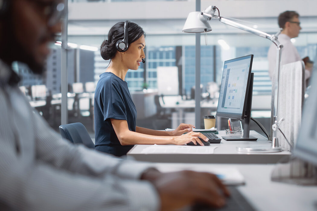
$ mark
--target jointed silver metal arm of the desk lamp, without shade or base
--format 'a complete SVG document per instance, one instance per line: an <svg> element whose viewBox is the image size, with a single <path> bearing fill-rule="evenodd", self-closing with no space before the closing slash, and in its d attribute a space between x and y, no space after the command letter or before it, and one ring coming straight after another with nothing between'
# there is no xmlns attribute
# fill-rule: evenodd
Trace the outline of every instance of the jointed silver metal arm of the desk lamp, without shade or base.
<svg viewBox="0 0 317 211"><path fill-rule="evenodd" d="M273 125L272 125L272 130L273 130L273 134L272 134L272 147L279 147L278 144L278 140L277 140L277 130L278 130L278 122L277 122L277 107L278 107L278 84L279 84L279 73L280 73L280 65L281 65L281 49L283 47L283 45L281 45L281 43L277 40L277 36L279 34L281 34L281 31L283 30L282 28L280 28L280 30L274 34L267 34L265 32L262 32L260 30L245 26L243 24L240 23L236 23L234 21L230 21L224 17L221 16L215 16L213 13L210 15L208 13L204 13L201 12L201 19L205 19L206 21L210 21L212 18L217 18L220 22L227 24L229 26L233 26L239 29L242 29L243 31L247 31L251 34L255 34L257 36L266 38L271 40L276 48L277 48L277 53L276 53L276 69L275 69L275 95L274 95L274 109L273 109Z"/></svg>

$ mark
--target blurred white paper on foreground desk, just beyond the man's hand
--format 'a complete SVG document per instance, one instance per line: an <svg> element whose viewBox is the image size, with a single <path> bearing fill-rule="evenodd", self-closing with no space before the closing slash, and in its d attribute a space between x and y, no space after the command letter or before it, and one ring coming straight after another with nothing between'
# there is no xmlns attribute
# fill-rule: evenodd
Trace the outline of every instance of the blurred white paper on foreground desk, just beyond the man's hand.
<svg viewBox="0 0 317 211"><path fill-rule="evenodd" d="M181 165L179 164L157 164L156 168L161 172L172 172L172 171L182 171L182 170L191 170L191 171L199 171L199 172L209 172L216 174L217 177L225 184L225 185L244 185L245 180L241 172L234 167L210 167L210 168L202 168L201 166L191 165L189 167L188 164Z"/></svg>

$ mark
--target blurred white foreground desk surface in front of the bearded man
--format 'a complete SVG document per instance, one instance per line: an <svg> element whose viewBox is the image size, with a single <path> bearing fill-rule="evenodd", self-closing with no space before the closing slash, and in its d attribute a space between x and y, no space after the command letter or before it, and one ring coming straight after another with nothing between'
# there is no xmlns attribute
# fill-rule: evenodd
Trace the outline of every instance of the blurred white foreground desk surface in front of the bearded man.
<svg viewBox="0 0 317 211"><path fill-rule="evenodd" d="M191 169L205 171L212 168L237 168L246 184L237 189L258 211L288 210L313 211L317 209L317 187L299 186L271 181L274 164L175 164L156 163L158 169Z"/></svg>

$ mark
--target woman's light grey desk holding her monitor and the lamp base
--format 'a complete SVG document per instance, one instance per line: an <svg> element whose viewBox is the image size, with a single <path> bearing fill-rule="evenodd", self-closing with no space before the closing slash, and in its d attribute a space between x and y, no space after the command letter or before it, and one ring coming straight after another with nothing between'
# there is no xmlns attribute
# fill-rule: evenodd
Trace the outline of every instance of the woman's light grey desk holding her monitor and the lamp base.
<svg viewBox="0 0 317 211"><path fill-rule="evenodd" d="M218 136L224 135L224 131L219 131ZM167 163L256 163L268 164L277 163L281 158L289 158L291 155L288 151L276 153L244 153L237 152L236 147L247 146L271 146L261 134L250 131L250 135L256 136L257 141L226 141L221 140L220 144L211 144L218 146L213 154L145 154L142 150L151 145L135 145L128 153L136 160L150 162L167 162ZM171 145L173 146L173 145ZM195 147L195 146L192 146ZM209 146L204 146L209 147Z"/></svg>

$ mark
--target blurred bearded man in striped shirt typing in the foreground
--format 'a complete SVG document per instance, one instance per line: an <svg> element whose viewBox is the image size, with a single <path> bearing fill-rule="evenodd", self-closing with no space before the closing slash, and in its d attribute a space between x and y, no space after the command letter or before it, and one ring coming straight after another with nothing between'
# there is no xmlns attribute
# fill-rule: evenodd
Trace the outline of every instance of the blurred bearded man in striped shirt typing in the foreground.
<svg viewBox="0 0 317 211"><path fill-rule="evenodd" d="M12 62L42 74L61 32L63 0L0 0L0 210L174 210L221 207L213 174L160 173L152 164L73 145L31 108Z"/></svg>

